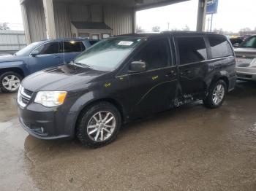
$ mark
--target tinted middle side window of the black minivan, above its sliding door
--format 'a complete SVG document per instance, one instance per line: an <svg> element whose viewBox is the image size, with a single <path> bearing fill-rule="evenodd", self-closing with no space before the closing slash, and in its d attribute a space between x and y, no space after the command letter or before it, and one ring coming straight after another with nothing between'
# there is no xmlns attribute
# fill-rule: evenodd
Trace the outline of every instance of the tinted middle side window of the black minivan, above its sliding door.
<svg viewBox="0 0 256 191"><path fill-rule="evenodd" d="M207 60L206 43L203 37L178 37L177 43L181 65Z"/></svg>

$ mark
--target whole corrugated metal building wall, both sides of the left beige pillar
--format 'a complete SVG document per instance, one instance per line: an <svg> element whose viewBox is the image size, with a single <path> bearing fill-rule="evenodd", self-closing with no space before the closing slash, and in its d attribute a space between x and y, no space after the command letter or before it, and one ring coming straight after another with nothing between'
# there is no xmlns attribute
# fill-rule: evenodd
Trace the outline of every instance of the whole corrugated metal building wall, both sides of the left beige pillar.
<svg viewBox="0 0 256 191"><path fill-rule="evenodd" d="M46 39L42 0L27 0L25 3L31 42ZM132 33L134 12L131 8L53 1L53 11L57 38L71 37L72 21L105 22L113 29L113 35Z"/></svg>

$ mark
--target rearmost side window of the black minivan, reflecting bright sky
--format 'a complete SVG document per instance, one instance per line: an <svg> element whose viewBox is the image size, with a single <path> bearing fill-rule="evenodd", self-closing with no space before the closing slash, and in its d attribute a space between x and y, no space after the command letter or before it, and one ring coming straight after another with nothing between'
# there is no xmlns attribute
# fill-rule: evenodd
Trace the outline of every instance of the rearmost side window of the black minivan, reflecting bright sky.
<svg viewBox="0 0 256 191"><path fill-rule="evenodd" d="M233 51L227 39L222 36L209 36L212 58L222 58L233 55Z"/></svg>

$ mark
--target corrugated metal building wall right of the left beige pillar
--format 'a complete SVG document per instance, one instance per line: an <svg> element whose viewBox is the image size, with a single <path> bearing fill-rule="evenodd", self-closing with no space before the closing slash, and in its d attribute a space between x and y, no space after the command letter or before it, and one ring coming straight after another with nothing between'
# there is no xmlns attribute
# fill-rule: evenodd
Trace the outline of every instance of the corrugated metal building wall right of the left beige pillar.
<svg viewBox="0 0 256 191"><path fill-rule="evenodd" d="M113 35L132 33L133 10L113 5L53 1L57 37L71 37L72 21L105 22Z"/></svg>

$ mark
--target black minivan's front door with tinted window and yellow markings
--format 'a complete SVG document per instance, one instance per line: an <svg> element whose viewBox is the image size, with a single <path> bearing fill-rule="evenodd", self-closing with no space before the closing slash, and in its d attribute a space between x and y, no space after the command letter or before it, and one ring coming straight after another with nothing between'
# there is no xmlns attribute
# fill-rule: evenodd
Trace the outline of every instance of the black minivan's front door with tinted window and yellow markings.
<svg viewBox="0 0 256 191"><path fill-rule="evenodd" d="M129 74L132 117L169 109L176 97L177 69L172 65L167 37L146 42L132 61L146 63L146 71Z"/></svg>

